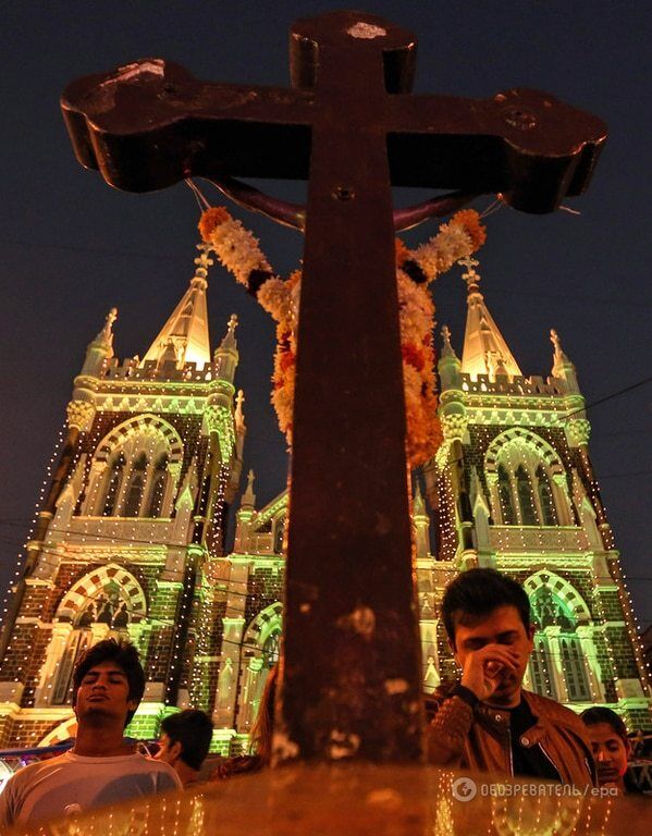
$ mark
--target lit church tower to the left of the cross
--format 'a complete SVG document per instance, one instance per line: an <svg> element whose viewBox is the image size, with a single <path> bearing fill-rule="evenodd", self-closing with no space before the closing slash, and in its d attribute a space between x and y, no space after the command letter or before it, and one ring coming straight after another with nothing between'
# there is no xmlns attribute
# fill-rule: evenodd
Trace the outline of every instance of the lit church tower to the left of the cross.
<svg viewBox="0 0 652 836"><path fill-rule="evenodd" d="M189 287L143 359L118 359L112 309L89 344L67 435L27 545L0 647L0 746L69 737L75 660L131 639L147 686L131 730L216 700L212 625L245 423L232 317L211 356L205 245ZM211 629L206 629L206 624Z"/></svg>

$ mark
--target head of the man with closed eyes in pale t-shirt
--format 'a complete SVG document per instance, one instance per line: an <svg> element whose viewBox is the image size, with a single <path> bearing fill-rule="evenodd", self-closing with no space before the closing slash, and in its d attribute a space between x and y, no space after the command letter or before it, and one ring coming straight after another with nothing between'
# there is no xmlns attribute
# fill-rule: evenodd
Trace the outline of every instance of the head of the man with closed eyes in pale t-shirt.
<svg viewBox="0 0 652 836"><path fill-rule="evenodd" d="M75 665L73 709L79 723L122 717L126 728L144 692L145 672L128 641L98 641Z"/></svg>

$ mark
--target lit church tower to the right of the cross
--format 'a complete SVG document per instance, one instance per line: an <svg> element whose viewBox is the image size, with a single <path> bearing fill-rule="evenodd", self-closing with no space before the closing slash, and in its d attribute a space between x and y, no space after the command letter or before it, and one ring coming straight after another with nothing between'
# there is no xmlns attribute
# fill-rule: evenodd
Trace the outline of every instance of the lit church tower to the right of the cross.
<svg viewBox="0 0 652 836"><path fill-rule="evenodd" d="M425 468L439 542L435 556L418 555L427 685L455 667L439 619L445 583L473 566L493 567L521 582L532 604L538 630L526 687L577 711L610 705L630 729L649 729L649 675L575 367L551 331L550 377L524 377L487 308L478 262L463 263L462 359L444 327L444 443Z"/></svg>

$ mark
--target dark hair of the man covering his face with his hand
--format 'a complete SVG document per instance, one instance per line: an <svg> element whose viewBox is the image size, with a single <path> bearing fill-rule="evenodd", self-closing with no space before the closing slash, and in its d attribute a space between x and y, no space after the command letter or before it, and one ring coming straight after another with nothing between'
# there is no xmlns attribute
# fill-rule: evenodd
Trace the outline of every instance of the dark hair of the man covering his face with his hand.
<svg viewBox="0 0 652 836"><path fill-rule="evenodd" d="M499 606L514 606L526 632L530 630L530 600L525 589L495 569L468 569L446 587L442 617L448 639L455 647L455 627L472 624Z"/></svg>

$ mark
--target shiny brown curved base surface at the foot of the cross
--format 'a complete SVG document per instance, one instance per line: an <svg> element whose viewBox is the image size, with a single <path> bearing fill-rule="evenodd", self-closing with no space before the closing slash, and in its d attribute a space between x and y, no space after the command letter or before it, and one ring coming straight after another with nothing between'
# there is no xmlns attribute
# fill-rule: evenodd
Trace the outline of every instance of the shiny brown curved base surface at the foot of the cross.
<svg viewBox="0 0 652 836"><path fill-rule="evenodd" d="M293 766L40 825L42 836L648 836L649 799L420 766ZM36 834L36 829L34 831Z"/></svg>

